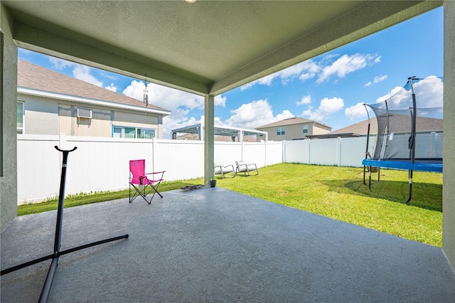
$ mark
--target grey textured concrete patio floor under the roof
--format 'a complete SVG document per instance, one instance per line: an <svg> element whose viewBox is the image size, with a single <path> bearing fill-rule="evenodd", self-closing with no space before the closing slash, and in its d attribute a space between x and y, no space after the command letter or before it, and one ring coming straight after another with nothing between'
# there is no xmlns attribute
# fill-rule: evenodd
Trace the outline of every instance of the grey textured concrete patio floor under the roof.
<svg viewBox="0 0 455 303"><path fill-rule="evenodd" d="M1 269L53 252L56 212L1 233ZM65 209L48 302L454 302L440 248L223 188ZM1 277L1 302L37 302L50 260Z"/></svg>

